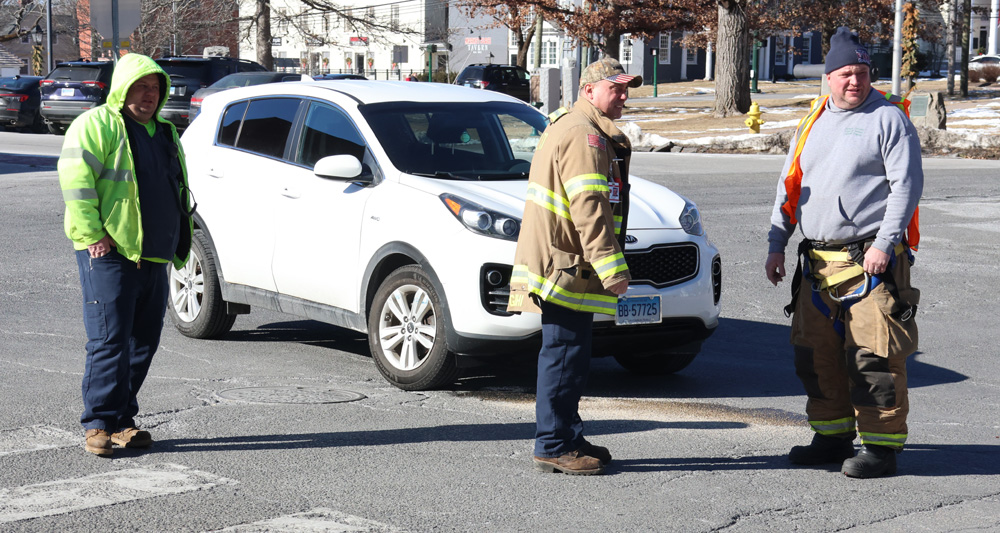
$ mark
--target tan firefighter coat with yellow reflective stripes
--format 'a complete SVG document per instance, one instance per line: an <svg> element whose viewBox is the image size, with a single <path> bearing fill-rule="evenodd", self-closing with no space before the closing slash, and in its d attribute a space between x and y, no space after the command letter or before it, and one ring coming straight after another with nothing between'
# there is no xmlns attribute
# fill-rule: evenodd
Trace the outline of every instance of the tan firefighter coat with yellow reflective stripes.
<svg viewBox="0 0 1000 533"><path fill-rule="evenodd" d="M579 100L542 134L510 282L512 312L539 302L615 314L607 287L629 280L624 238L632 145L611 119Z"/></svg>

